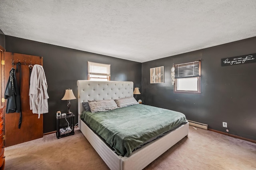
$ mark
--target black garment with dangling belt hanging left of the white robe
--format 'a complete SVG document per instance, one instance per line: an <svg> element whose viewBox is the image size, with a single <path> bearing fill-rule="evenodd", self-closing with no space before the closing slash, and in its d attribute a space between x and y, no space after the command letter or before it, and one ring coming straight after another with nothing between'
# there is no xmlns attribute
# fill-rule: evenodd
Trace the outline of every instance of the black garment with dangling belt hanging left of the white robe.
<svg viewBox="0 0 256 170"><path fill-rule="evenodd" d="M19 129L20 129L21 121L22 121L22 113L21 113L21 107L20 107L20 90L18 88L14 68L10 70L10 77L6 84L4 98L7 99L6 113L14 113L14 112L20 113L20 121L19 121Z"/></svg>

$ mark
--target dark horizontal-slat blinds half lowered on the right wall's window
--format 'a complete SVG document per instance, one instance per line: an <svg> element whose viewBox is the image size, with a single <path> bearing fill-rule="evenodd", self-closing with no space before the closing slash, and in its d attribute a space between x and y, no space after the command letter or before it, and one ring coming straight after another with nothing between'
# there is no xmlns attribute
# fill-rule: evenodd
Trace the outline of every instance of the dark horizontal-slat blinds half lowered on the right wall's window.
<svg viewBox="0 0 256 170"><path fill-rule="evenodd" d="M201 61L194 61L185 64L176 64L175 78L189 78L201 76Z"/></svg>

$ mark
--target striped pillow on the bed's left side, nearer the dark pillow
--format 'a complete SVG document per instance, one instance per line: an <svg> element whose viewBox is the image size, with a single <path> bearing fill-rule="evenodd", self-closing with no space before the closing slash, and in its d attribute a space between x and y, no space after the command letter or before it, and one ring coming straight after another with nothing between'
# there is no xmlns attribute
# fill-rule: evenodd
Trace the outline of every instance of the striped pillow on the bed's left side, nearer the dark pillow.
<svg viewBox="0 0 256 170"><path fill-rule="evenodd" d="M88 104L90 106L92 113L96 113L99 111L108 111L118 108L116 102L113 99L88 101Z"/></svg>

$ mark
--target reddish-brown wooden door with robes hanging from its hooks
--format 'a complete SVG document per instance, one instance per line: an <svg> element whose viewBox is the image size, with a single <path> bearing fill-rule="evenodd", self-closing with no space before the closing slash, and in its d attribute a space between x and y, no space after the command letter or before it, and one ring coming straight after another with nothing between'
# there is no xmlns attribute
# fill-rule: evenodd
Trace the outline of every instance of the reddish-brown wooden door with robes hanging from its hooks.
<svg viewBox="0 0 256 170"><path fill-rule="evenodd" d="M14 65L12 65L14 61ZM16 79L20 87L20 103L22 109L22 124L18 128L20 113L5 113L5 146L16 145L43 137L43 115L33 114L29 104L29 65L42 65L42 57L24 55L18 53L4 52L4 90L10 76L12 67L16 70L16 63L21 63L21 84L20 72L16 72ZM18 70L19 71L19 70ZM7 100L5 100L6 105Z"/></svg>

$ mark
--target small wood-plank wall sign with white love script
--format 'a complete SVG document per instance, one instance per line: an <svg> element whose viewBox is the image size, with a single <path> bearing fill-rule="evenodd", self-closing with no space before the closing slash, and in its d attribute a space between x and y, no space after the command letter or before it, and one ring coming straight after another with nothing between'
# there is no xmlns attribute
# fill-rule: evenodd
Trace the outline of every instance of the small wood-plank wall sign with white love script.
<svg viewBox="0 0 256 170"><path fill-rule="evenodd" d="M164 66L150 68L150 84L164 82Z"/></svg>

